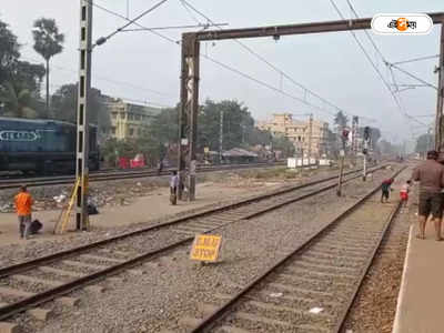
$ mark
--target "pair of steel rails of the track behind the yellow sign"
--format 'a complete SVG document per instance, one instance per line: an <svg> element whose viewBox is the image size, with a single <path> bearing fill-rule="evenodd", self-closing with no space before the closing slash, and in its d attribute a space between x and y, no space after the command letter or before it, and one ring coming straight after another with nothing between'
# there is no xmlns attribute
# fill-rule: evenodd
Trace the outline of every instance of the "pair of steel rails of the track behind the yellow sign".
<svg viewBox="0 0 444 333"><path fill-rule="evenodd" d="M382 168L384 168L384 165L373 169L373 172L376 171L376 170L380 170ZM350 171L350 172L347 172L347 174L353 174L353 173L356 173L356 172L360 172L360 170ZM360 176L361 176L360 174L353 175L353 176L346 179L345 181L351 181L351 180L357 179ZM97 249L97 248L100 249L101 245L109 244L111 242L115 242L115 241L119 241L119 240L123 240L123 239L132 236L132 235L139 235L139 234L145 233L148 231L154 231L154 230L159 230L161 228L179 224L179 223L182 223L184 221L195 220L196 218L202 218L202 216L205 216L205 215L213 215L213 214L215 214L218 212L222 212L222 211L226 211L226 210L234 210L236 208L241 208L241 212L238 212L236 215L235 215L235 219L232 219L232 221L226 221L225 220L224 223L219 223L219 225L214 225L214 228L210 228L210 229L206 228L208 226L208 222L206 222L206 224L202 223L202 226L204 228L204 230L202 230L201 233L212 232L212 231L215 231L215 230L218 230L218 229L220 229L222 226L229 225L231 223L239 222L240 220L252 219L252 218L254 218L256 215L260 215L260 214L263 214L265 212L275 210L275 209L281 208L281 206L285 205L285 204L289 204L289 203L292 203L292 202L296 202L296 201L301 201L303 199L306 199L306 198L310 198L310 196L314 196L314 195L316 195L319 193L322 193L322 192L325 192L327 190L334 189L336 186L335 181L333 181L331 184L329 184L326 186L323 186L321 189L315 189L314 191L310 191L310 192L304 193L304 194L299 195L299 196L287 196L287 198L285 198L283 195L285 193L289 194L290 192L295 191L295 190L309 188L309 186L316 185L316 184L322 184L324 182L329 182L329 181L332 181L332 180L335 180L335 179L336 179L336 176L330 176L330 178L316 180L316 181L313 181L313 182L309 182L309 183L305 183L305 184L302 184L302 185L292 186L292 188L287 188L287 189L284 189L284 190L274 191L272 193L265 193L265 194L262 194L262 195L256 195L254 198L249 198L246 200L241 200L239 202L235 202L235 203L232 203L232 204L226 204L226 205L223 205L223 206L220 206L220 208L216 208L216 209L211 209L211 210L208 210L208 211L193 213L193 214L188 215L188 216L182 216L182 218L179 218L179 219L174 219L172 221L169 221L169 222L165 222L165 223L162 223L162 224L158 224L158 225L149 226L149 228L145 228L145 229L142 229L142 230L129 232L129 233L121 234L121 235L118 235L118 236L114 236L114 238L110 238L110 239L107 239L107 240L103 240L103 241L94 242L94 243L91 243L91 244L88 244L88 245L83 245L83 246L79 246L79 248L75 248L75 249L62 251L62 252L59 252L59 253L56 253L56 254L47 255L47 256L39 258L39 259L36 259L36 260L31 260L31 261L28 261L28 262L19 263L19 264L9 266L9 268L3 268L3 269L0 269L0 278L1 279L7 279L7 278L10 278L10 276L13 276L14 274L27 272L27 271L29 271L31 269L43 266L43 265L49 264L49 263L54 263L54 262L57 262L59 260L62 261L62 260L65 260L68 258L72 258L74 255L84 254L84 252L87 252L87 251L89 251L91 249ZM263 200L266 200L266 199L270 199L270 198L274 198L274 196L278 196L278 195L283 195L283 198L281 198L282 199L281 201L272 202L271 204L266 204L266 202L265 202L265 204L263 205ZM253 206L254 210L253 211L244 211L244 212L242 212L242 208L249 206L249 204L251 204L251 203L258 203L256 206ZM261 205L261 203L262 203L262 205ZM230 213L230 211L229 211L229 213ZM170 251L172 249L176 249L176 248L179 248L181 245L190 243L190 242L193 241L193 239L194 239L194 234L193 235L188 235L182 240L175 241L175 242L173 242L171 244L168 244L168 245L163 246L162 249L151 250L149 252L140 254L140 255L138 255L135 258L132 258L132 259L130 259L128 261L124 261L122 263L119 263L119 264L102 269L99 272L94 272L92 274L89 274L89 275L85 275L85 276L81 276L80 279L70 281L68 283L63 283L62 285L49 289L49 290L47 290L47 291L44 291L42 293L38 293L38 294L34 294L34 295L28 296L28 297L26 297L23 300L20 300L20 301L16 302L16 303L8 304L8 305L6 305L3 307L0 307L0 320L4 320L4 319L8 319L8 317L11 317L11 316L13 316L13 315L16 315L16 314L18 314L20 312L23 312L23 311L26 311L26 310L28 310L30 307L33 307L33 306L39 305L41 303L46 303L46 302L48 302L50 300L53 300L56 297L59 297L59 296L64 295L67 293L70 293L73 290L77 290L77 289L82 287L84 285L94 283L97 281L100 281L100 280L102 280L102 279L104 279L104 278L107 278L109 275L114 275L114 274L117 274L119 272L122 272L124 270L128 270L128 269L130 269L132 266L139 265L142 262L149 261L149 260L155 258L157 255L159 255L161 253L165 253L165 252L168 252L168 251Z"/></svg>

